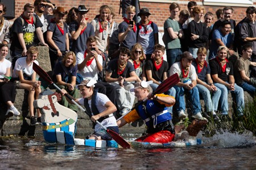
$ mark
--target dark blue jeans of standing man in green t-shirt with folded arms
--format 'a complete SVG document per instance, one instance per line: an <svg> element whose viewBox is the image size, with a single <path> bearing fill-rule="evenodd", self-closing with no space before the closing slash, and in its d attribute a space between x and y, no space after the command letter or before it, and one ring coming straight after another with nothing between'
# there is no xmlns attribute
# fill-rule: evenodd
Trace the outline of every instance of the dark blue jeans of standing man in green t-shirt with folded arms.
<svg viewBox="0 0 256 170"><path fill-rule="evenodd" d="M168 68L176 62L181 60L181 49L180 48L175 48L175 49L167 49L166 50L166 57L167 57L167 62L168 62Z"/></svg>

